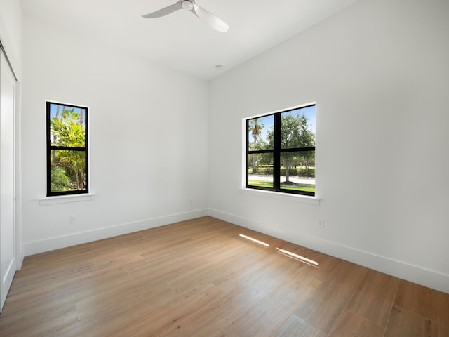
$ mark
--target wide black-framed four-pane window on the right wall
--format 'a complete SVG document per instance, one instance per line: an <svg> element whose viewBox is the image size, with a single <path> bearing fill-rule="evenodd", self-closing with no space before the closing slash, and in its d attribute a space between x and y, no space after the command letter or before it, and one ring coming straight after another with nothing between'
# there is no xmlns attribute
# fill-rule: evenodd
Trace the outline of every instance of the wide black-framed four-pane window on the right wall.
<svg viewBox="0 0 449 337"><path fill-rule="evenodd" d="M246 119L246 187L315 195L316 105Z"/></svg>

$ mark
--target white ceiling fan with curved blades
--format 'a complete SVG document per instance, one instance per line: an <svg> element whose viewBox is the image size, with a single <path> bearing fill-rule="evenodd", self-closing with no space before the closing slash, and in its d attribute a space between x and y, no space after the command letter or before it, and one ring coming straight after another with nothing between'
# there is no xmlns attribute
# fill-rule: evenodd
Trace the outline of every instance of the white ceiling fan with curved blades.
<svg viewBox="0 0 449 337"><path fill-rule="evenodd" d="M159 11L155 11L153 13L142 16L147 19L160 18L161 16L168 15L179 9L185 9L185 11L194 13L194 15L196 15L201 21L206 23L206 25L217 30L218 32L227 32L227 29L229 29L229 25L227 25L225 21L218 18L213 13L206 11L206 9L198 6L195 0L179 0L173 5L161 8L159 9Z"/></svg>

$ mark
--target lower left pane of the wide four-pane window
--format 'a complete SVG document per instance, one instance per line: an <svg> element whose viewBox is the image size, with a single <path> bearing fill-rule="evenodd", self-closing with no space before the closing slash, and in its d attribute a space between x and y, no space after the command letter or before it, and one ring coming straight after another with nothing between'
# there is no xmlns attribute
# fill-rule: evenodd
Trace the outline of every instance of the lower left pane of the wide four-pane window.
<svg viewBox="0 0 449 337"><path fill-rule="evenodd" d="M248 185L273 188L273 154L248 154Z"/></svg>

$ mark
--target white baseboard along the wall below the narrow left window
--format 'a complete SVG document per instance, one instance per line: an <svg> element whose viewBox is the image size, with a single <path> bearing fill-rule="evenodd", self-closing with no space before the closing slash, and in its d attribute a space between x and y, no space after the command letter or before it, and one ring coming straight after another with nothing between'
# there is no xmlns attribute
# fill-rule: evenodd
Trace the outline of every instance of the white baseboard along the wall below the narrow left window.
<svg viewBox="0 0 449 337"><path fill-rule="evenodd" d="M25 256L29 256L37 253L43 253L45 251L53 251L55 249L74 246L76 244L85 244L86 242L107 239L108 237L116 237L122 234L138 232L139 230L147 230L149 228L168 225L170 223L177 223L194 218L201 218L201 216L207 215L207 209L198 209L195 211L173 214L170 216L161 216L159 218L140 220L133 223L122 223L120 225L115 225L112 227L103 227L86 232L78 232L60 237L51 237L50 239L44 239L35 242L25 242L23 244L22 251L24 252Z"/></svg>

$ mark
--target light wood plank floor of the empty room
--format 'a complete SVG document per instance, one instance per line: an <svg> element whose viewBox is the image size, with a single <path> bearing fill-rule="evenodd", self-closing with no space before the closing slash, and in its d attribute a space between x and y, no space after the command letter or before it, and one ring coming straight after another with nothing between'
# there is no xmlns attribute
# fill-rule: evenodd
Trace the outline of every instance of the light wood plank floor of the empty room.
<svg viewBox="0 0 449 337"><path fill-rule="evenodd" d="M447 337L449 295L205 217L28 256L0 336Z"/></svg>

